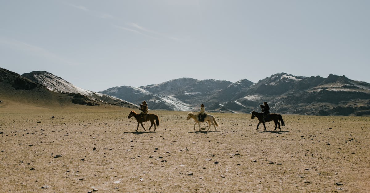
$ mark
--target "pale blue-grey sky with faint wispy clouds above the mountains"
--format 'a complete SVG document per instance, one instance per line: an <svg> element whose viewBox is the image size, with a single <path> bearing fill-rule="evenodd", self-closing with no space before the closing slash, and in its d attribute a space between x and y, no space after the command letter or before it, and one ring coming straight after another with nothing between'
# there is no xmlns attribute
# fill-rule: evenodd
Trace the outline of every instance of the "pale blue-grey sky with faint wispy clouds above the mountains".
<svg viewBox="0 0 370 193"><path fill-rule="evenodd" d="M0 67L103 91L286 72L370 83L368 0L0 0Z"/></svg>

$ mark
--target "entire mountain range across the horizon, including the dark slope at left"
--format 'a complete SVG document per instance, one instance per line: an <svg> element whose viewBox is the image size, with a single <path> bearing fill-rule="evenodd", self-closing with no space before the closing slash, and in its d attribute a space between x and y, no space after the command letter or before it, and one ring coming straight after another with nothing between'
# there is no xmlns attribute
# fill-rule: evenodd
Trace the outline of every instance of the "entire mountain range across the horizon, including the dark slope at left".
<svg viewBox="0 0 370 193"><path fill-rule="evenodd" d="M205 104L207 112L248 114L253 110L260 111L259 105L266 101L271 113L370 115L370 84L333 74L323 78L280 73L257 83L248 79L233 83L179 78L156 85L121 86L92 92L46 71L19 75L0 68L0 89L0 101L18 94L17 97L37 98L34 101L50 99L60 103L138 108L138 104L145 100L152 110L198 111L200 104Z"/></svg>

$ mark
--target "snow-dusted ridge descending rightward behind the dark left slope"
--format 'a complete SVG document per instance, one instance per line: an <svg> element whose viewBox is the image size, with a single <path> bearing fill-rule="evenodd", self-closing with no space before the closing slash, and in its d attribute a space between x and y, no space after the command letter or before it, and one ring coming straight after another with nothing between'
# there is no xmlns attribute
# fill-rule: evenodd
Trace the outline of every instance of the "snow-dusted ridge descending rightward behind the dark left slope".
<svg viewBox="0 0 370 193"><path fill-rule="evenodd" d="M63 78L57 77L47 71L33 71L30 73L22 74L21 76L28 78L31 81L37 82L41 85L44 85L50 91L67 92L73 94L74 96L73 102L77 104L88 103L97 105L98 103L110 103L119 106L128 106L128 107L137 106L117 97L79 88L71 84L70 82L64 80Z"/></svg>

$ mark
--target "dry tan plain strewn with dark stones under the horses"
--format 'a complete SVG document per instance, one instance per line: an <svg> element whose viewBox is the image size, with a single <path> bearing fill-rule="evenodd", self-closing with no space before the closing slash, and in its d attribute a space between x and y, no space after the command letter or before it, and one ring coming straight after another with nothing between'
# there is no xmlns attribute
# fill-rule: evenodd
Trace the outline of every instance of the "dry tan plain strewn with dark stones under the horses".
<svg viewBox="0 0 370 193"><path fill-rule="evenodd" d="M256 131L250 114L213 113L217 131L194 132L187 112L149 111L157 130L135 132L128 108L0 106L0 192L370 191L370 117Z"/></svg>

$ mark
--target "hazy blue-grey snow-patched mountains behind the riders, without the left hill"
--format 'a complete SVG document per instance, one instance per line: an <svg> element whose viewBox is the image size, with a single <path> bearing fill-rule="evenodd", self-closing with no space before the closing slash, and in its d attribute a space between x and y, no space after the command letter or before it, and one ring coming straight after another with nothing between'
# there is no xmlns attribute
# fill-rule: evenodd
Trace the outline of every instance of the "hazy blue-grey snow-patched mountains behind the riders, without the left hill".
<svg viewBox="0 0 370 193"><path fill-rule="evenodd" d="M253 83L179 78L157 85L114 87L101 91L139 104L149 101L151 109L250 113L268 101L272 112L306 115L370 114L370 84L330 74L301 77L273 74Z"/></svg>

